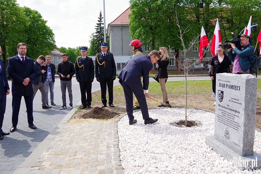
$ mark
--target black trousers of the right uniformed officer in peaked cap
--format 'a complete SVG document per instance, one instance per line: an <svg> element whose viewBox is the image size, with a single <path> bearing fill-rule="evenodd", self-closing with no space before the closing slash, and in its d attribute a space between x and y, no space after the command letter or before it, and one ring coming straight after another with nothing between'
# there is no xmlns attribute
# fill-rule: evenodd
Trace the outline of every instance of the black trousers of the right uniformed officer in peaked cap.
<svg viewBox="0 0 261 174"><path fill-rule="evenodd" d="M108 86L109 104L113 104L113 80L111 78L100 79L102 104L107 104L106 85Z"/></svg>

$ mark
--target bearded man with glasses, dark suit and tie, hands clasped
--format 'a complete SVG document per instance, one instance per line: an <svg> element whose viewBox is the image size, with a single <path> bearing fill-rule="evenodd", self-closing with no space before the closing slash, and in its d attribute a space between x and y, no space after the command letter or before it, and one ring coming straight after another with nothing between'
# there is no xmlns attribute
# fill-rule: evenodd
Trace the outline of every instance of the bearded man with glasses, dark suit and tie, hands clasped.
<svg viewBox="0 0 261 174"><path fill-rule="evenodd" d="M17 45L18 54L8 59L7 71L12 79L12 127L10 132L17 128L18 115L22 96L26 103L28 127L36 129L33 124L33 88L32 82L36 76L34 61L26 56L27 46L25 43Z"/></svg>

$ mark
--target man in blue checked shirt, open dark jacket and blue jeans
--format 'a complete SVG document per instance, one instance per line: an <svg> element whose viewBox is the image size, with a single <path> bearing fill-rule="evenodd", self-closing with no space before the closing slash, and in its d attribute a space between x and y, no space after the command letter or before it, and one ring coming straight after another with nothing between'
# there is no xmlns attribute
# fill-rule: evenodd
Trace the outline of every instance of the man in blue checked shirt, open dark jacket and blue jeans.
<svg viewBox="0 0 261 174"><path fill-rule="evenodd" d="M55 65L51 63L51 56L46 55L45 60L46 60L46 68L47 68L45 82L44 82L45 92L46 92L46 105L49 106L48 92L49 92L49 87L50 87L51 105L55 106L56 104L53 102L53 100L54 100L53 89L54 89L54 82L55 82Z"/></svg>

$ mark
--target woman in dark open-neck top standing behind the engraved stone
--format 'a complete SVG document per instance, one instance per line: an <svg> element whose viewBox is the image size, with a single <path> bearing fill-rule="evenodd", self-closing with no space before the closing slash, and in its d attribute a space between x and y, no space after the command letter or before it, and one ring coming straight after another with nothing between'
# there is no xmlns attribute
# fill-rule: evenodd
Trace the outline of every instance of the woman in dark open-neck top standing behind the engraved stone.
<svg viewBox="0 0 261 174"><path fill-rule="evenodd" d="M209 75L212 80L212 90L216 97L216 74L217 73L232 73L233 67L228 56L225 53L224 47L219 45L217 55L212 57L209 66ZM216 102L213 104L216 105Z"/></svg>

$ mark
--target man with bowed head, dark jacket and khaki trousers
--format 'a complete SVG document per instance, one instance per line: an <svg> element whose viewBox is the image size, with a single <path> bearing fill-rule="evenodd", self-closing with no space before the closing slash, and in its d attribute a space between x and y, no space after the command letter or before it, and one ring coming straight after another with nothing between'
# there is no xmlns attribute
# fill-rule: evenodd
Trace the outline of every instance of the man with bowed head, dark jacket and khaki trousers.
<svg viewBox="0 0 261 174"><path fill-rule="evenodd" d="M43 64L43 66L41 66ZM45 92L45 75L46 75L46 63L45 63L45 57L43 55L40 55L38 59L34 63L35 69L36 69L36 77L32 81L32 86L34 90L33 99L35 98L35 95L37 93L37 90L39 89L42 96L42 108L48 109L52 108L52 106L46 105L46 92Z"/></svg>

